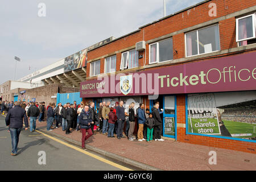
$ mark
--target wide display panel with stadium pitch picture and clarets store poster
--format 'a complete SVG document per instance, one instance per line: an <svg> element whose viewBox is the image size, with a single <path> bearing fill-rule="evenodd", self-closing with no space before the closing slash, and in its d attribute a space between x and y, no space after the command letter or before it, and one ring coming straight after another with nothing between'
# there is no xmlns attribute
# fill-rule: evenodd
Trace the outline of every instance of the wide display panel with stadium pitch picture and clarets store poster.
<svg viewBox="0 0 256 182"><path fill-rule="evenodd" d="M188 132L256 140L256 92L188 94Z"/></svg>

